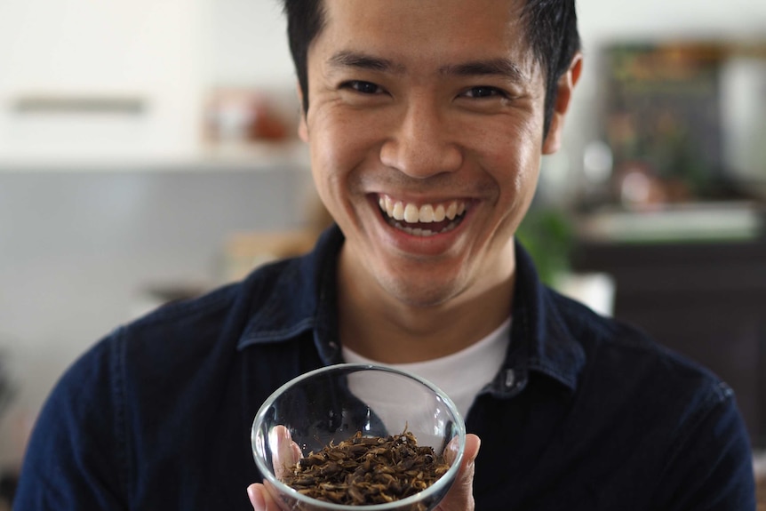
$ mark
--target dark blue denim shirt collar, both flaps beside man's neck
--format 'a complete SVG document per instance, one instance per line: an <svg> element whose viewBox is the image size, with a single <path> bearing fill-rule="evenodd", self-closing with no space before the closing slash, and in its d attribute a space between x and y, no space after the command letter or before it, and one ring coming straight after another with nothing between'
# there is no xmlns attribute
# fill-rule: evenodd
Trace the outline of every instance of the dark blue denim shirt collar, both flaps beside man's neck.
<svg viewBox="0 0 766 511"><path fill-rule="evenodd" d="M337 226L320 236L314 251L274 263L271 269L251 274L266 278L251 284L251 292L268 293L252 300L254 312L238 349L250 345L295 339L313 331L323 363L342 362L338 339L337 259L344 237ZM507 360L491 390L515 394L531 371L539 372L574 389L585 364L585 352L568 328L554 291L539 282L529 254L516 243L516 283L513 323Z"/></svg>

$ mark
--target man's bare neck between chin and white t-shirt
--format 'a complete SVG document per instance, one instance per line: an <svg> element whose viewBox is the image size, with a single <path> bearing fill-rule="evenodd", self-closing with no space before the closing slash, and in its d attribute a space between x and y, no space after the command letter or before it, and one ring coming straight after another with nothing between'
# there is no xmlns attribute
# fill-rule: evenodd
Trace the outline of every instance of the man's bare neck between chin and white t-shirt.
<svg viewBox="0 0 766 511"><path fill-rule="evenodd" d="M433 306L413 306L364 275L341 255L340 340L359 355L381 363L431 360L471 346L497 329L511 313L515 257L470 289ZM371 291L374 290L374 291Z"/></svg>

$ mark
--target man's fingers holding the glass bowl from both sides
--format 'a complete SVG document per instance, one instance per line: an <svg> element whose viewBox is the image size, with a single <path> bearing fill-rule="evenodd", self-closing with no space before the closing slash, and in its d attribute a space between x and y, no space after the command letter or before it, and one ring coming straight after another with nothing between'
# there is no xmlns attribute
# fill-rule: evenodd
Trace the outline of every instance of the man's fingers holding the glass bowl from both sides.
<svg viewBox="0 0 766 511"><path fill-rule="evenodd" d="M277 428L273 432L274 440L269 435L269 443L275 442L275 444L272 443L272 451L277 453L275 458L280 461L289 459L291 463L297 462L300 459L298 445L291 441L290 432L287 431L286 427L282 429ZM274 448L274 445L276 445L276 448ZM447 495L439 504L439 507L436 507L436 511L473 511L474 462L476 455L479 453L480 445L481 441L478 436L466 435L466 451L458 476L455 479L455 483L452 484L450 491L447 492ZM448 447L448 449L450 448ZM450 451L447 451L446 456L447 458L450 457ZM281 463L281 466L284 467L284 464ZM276 491L268 482L251 484L247 488L247 495L250 498L254 511L282 511L281 507L277 504Z"/></svg>

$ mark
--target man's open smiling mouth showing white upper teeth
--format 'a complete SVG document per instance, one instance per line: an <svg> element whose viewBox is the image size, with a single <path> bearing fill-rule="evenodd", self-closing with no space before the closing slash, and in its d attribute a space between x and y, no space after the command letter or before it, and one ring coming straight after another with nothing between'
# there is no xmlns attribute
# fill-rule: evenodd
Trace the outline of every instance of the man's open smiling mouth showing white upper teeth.
<svg viewBox="0 0 766 511"><path fill-rule="evenodd" d="M389 226L423 237L441 235L457 228L467 211L464 201L418 205L380 196L378 204Z"/></svg>

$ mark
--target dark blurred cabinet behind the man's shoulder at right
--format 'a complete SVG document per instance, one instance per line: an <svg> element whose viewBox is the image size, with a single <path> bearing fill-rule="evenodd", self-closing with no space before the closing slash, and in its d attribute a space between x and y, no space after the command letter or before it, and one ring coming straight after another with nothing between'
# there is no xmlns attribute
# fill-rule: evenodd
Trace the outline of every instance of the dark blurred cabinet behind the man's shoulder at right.
<svg viewBox="0 0 766 511"><path fill-rule="evenodd" d="M581 242L573 266L612 275L615 317L729 383L754 447L766 448L766 239Z"/></svg>

